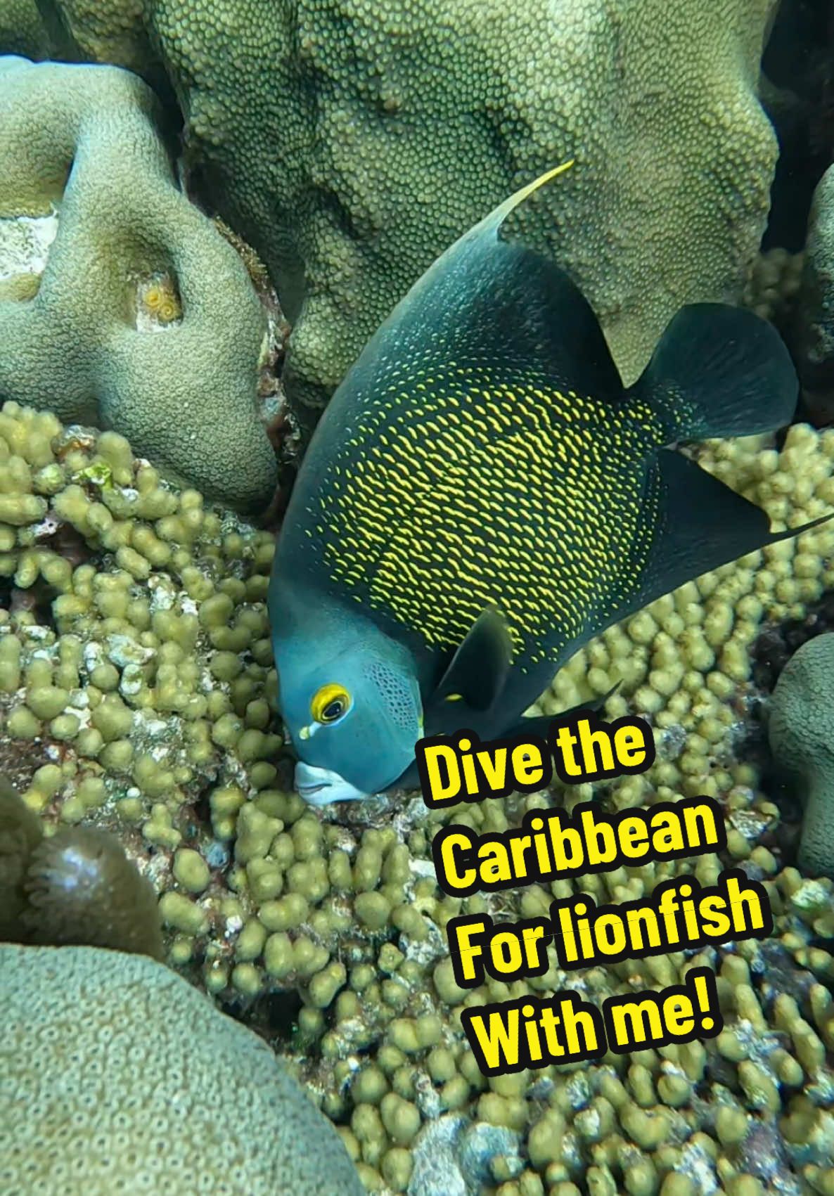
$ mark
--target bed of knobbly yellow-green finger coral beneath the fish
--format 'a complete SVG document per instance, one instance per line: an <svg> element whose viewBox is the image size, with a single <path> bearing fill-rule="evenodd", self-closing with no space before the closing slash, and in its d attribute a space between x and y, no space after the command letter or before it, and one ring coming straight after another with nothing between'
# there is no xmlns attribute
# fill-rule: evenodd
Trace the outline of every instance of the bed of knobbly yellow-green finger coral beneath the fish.
<svg viewBox="0 0 834 1196"><path fill-rule="evenodd" d="M48 413L7 403L0 458L0 770L47 843L67 825L120 837L158 895L168 963L288 1062L336 1123L369 1191L832 1190L834 884L793 866L796 828L739 751L766 698L751 647L765 626L802 621L832 588L830 525L706 574L611 628L542 695L538 709L556 713L620 681L607 715L650 719L657 761L647 773L451 811L400 795L323 818L282 780L264 612L272 536L163 483L121 437L65 428ZM711 441L698 459L765 507L774 527L834 506L834 431L799 425L780 448L767 437ZM610 811L701 793L726 816L720 858L464 899L437 885L431 842L445 822L501 832L528 810L591 797ZM14 861L36 846L31 819L10 828L0 806L0 884L19 893ZM455 981L445 939L453 916L536 917L580 891L597 904L634 901L683 873L713 884L729 864L767 889L774 932L761 942L567 974L554 963L510 986L488 977L463 990ZM461 1030L465 1005L565 987L599 1003L677 983L699 965L718 974L725 1020L705 1043L487 1080ZM87 1008L95 1019L92 996L73 1007L73 1045ZM31 1027L31 1008L28 1017ZM141 1038L148 1051L152 1032ZM195 1021L190 1051L200 1037ZM6 1019L0 1050L8 1042ZM101 1076L102 1052L86 1043ZM215 1064L218 1074L220 1056ZM217 1123L244 1133L245 1100L230 1098ZM159 1121L159 1141L176 1176L191 1122L171 1116ZM263 1149L270 1139L258 1133ZM213 1141L203 1141L205 1158ZM0 1160L10 1165L2 1151Z"/></svg>

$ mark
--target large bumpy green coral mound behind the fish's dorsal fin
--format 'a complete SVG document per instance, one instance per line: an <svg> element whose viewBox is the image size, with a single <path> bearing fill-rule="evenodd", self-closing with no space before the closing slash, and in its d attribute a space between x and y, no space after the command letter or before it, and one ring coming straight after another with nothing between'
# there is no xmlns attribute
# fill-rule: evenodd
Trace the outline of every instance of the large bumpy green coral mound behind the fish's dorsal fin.
<svg viewBox="0 0 834 1196"><path fill-rule="evenodd" d="M69 53L164 67L194 185L261 254L293 323L299 409L439 252L568 158L511 227L574 276L627 382L682 304L741 295L759 249L772 0L453 0L443 19L433 0L50 7Z"/></svg>

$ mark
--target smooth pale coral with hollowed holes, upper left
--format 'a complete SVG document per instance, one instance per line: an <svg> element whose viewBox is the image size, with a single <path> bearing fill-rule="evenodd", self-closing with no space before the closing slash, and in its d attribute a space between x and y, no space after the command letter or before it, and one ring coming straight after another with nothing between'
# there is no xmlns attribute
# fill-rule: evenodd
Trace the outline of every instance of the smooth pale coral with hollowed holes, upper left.
<svg viewBox="0 0 834 1196"><path fill-rule="evenodd" d="M175 183L151 90L116 67L0 59L0 398L130 438L257 511L266 312Z"/></svg>

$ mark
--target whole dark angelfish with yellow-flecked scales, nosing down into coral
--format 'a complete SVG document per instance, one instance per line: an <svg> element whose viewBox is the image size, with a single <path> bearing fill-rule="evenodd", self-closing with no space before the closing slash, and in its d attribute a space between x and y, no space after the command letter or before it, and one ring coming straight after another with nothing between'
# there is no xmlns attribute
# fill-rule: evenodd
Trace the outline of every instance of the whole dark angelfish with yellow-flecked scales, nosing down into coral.
<svg viewBox="0 0 834 1196"><path fill-rule="evenodd" d="M683 307L623 388L567 274L499 236L567 166L430 267L303 459L268 606L296 786L313 805L416 783L424 736L542 733L550 720L524 712L590 639L804 530L772 533L674 447L790 422L797 378L769 324Z"/></svg>

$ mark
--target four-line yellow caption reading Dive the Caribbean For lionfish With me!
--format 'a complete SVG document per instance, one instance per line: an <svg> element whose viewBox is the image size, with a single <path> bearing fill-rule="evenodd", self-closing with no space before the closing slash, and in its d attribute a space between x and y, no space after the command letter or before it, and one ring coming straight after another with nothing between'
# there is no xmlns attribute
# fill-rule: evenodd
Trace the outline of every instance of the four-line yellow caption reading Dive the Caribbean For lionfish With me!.
<svg viewBox="0 0 834 1196"><path fill-rule="evenodd" d="M541 725L541 724L537 724ZM640 773L655 761L651 727L641 719L604 724L591 710L554 719L547 742L534 736L480 744L469 731L422 739L416 759L427 806L455 805L564 783ZM479 835L464 823L444 826L432 842L444 892L468 897L585 873L689 859L726 848L726 828L713 798L683 798L605 813L585 801L565 810L528 811L522 825ZM549 916L495 925L487 914L446 923L455 978L480 988L487 976L505 983L646 956L696 951L773 932L767 890L741 868L714 885L671 877L637 901L597 905L588 893L550 903ZM461 1023L485 1075L599 1058L720 1033L716 977L693 966L682 984L610 996L601 1007L573 989L464 1006Z"/></svg>

